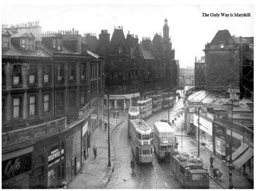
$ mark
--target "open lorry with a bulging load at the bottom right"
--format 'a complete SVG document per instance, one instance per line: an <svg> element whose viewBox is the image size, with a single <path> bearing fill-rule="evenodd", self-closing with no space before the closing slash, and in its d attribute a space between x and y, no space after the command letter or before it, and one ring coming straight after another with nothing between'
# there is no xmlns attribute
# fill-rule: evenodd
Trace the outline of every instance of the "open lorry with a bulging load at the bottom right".
<svg viewBox="0 0 256 191"><path fill-rule="evenodd" d="M200 159L174 151L171 154L170 168L185 188L209 188L208 172Z"/></svg>

